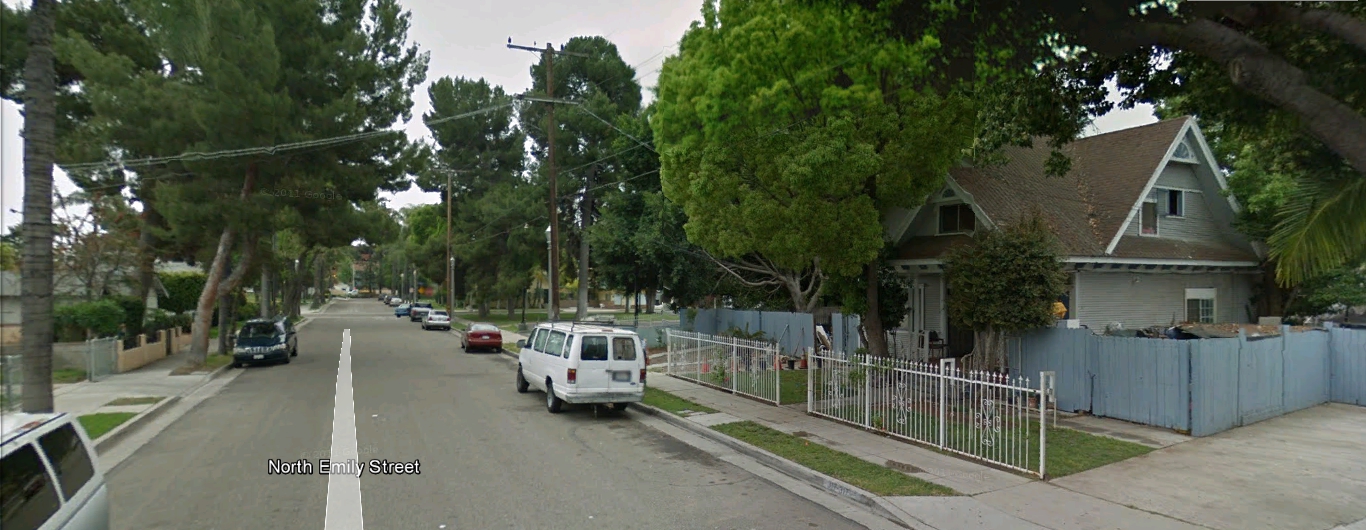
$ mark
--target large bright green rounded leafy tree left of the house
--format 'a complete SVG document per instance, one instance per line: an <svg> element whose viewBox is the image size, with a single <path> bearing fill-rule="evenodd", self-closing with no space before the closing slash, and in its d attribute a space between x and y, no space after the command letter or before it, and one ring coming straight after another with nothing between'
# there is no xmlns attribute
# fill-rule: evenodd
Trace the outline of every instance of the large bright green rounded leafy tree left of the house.
<svg viewBox="0 0 1366 530"><path fill-rule="evenodd" d="M798 311L831 275L863 276L880 307L884 212L941 186L971 145L968 98L933 85L937 41L829 3L708 1L702 16L664 63L652 122L688 240ZM865 326L884 354L878 311Z"/></svg>

